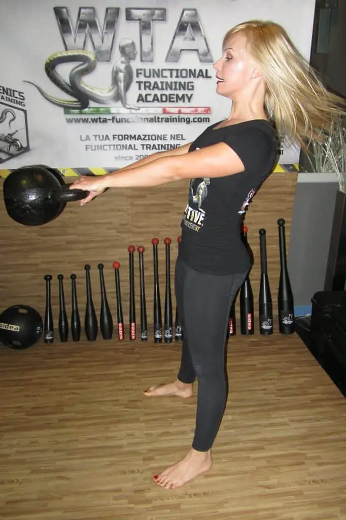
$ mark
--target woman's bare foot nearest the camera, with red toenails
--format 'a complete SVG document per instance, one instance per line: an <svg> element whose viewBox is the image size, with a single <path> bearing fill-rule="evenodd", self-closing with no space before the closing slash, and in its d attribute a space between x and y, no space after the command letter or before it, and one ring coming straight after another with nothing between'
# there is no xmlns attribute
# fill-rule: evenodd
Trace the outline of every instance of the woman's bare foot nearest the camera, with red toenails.
<svg viewBox="0 0 346 520"><path fill-rule="evenodd" d="M210 470L212 466L211 451L190 449L187 456L165 471L154 476L156 484L165 489L176 489L189 480Z"/></svg>

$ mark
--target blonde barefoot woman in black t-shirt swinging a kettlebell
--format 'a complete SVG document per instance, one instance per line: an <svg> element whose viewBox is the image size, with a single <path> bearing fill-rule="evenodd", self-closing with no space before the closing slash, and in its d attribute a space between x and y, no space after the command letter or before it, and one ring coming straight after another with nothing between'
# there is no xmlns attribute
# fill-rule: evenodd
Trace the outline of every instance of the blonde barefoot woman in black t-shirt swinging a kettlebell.
<svg viewBox="0 0 346 520"><path fill-rule="evenodd" d="M342 100L327 92L285 30L273 22L250 21L231 29L214 68L217 93L232 100L227 119L209 126L188 145L152 154L104 177L82 177L71 185L91 190L81 201L85 204L109 187L192 179L175 280L184 330L181 366L176 381L144 392L190 397L198 380L192 447L183 459L154 476L167 489L182 486L212 464L211 447L227 397L227 322L250 268L240 226L252 197L275 165L276 131L305 146L341 113Z"/></svg>

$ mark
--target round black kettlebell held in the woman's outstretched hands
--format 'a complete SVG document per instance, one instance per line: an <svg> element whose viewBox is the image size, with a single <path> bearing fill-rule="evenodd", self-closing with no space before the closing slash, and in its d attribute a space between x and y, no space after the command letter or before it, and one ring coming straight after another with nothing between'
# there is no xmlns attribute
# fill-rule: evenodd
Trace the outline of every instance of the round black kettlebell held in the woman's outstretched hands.
<svg viewBox="0 0 346 520"><path fill-rule="evenodd" d="M47 224L64 210L66 202L84 199L88 191L69 189L54 168L25 166L4 180L4 202L8 215L24 226Z"/></svg>

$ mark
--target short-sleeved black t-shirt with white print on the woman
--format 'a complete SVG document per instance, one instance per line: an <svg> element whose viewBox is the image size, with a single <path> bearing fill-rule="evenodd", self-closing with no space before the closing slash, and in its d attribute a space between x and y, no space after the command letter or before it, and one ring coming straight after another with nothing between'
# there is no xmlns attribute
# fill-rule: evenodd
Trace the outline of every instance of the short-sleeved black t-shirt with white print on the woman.
<svg viewBox="0 0 346 520"><path fill-rule="evenodd" d="M241 224L252 197L273 170L277 141L274 128L265 120L214 129L219 123L208 126L189 152L225 142L245 170L225 177L191 179L179 254L193 269L225 275L244 272L251 265Z"/></svg>

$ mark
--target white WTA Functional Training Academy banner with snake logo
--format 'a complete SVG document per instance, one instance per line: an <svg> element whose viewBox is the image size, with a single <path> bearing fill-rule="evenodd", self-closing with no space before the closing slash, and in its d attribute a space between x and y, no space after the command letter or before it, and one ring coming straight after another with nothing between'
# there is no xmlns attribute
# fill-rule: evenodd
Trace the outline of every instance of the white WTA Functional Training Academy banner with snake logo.
<svg viewBox="0 0 346 520"><path fill-rule="evenodd" d="M314 5L0 0L0 168L112 170L194 140L230 113L212 67L225 32L270 19L309 60ZM280 163L298 156L284 149Z"/></svg>

